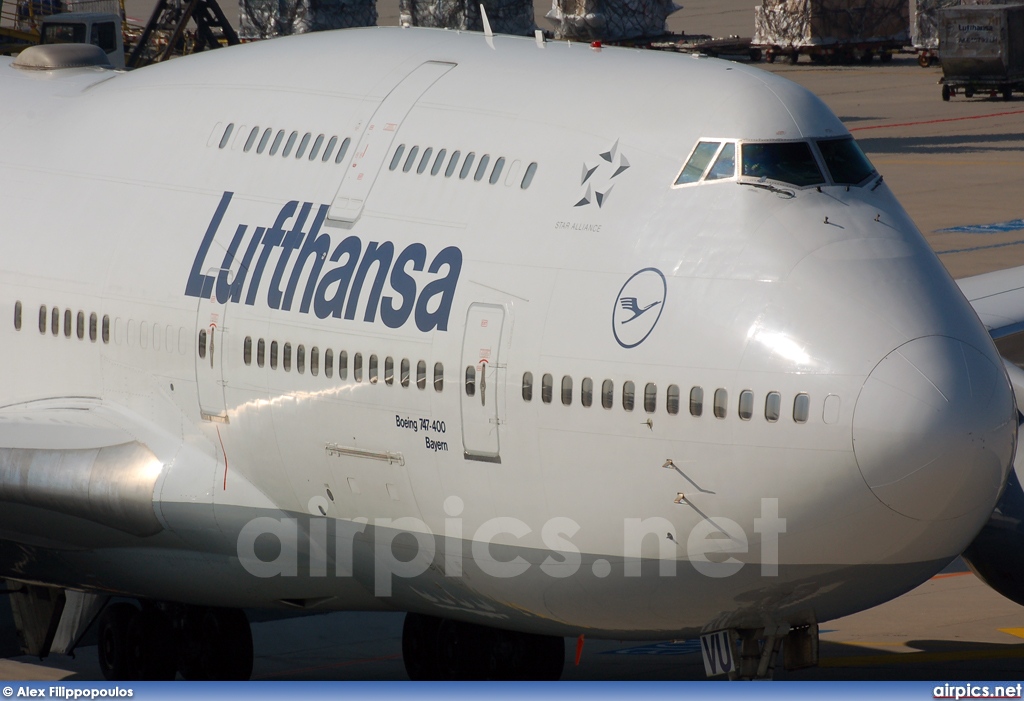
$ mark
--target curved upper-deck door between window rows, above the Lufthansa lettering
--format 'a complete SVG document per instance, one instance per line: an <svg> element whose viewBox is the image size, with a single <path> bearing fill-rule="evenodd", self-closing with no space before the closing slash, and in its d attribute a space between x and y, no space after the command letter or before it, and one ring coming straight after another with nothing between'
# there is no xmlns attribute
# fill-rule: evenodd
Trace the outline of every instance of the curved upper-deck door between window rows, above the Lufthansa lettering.
<svg viewBox="0 0 1024 701"><path fill-rule="evenodd" d="M377 106L374 116L362 129L352 162L345 169L341 186L328 211L328 219L354 222L359 218L362 205L384 165L384 159L391 150L391 142L401 127L402 120L423 93L455 65L439 61L422 63L406 76Z"/></svg>

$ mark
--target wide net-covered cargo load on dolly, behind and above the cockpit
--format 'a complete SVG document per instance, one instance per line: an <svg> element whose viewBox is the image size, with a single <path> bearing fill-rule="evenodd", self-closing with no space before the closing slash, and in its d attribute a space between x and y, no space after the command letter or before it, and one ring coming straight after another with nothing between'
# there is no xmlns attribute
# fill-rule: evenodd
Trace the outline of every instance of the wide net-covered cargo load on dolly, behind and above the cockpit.
<svg viewBox="0 0 1024 701"><path fill-rule="evenodd" d="M770 62L801 55L814 62L892 58L908 39L906 0L763 0L754 9L752 46Z"/></svg>

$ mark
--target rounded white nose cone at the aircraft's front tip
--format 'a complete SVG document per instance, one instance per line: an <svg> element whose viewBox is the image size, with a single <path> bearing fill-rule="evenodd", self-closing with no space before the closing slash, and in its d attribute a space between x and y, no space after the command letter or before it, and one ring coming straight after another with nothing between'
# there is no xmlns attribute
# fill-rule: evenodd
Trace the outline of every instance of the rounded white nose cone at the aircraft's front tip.
<svg viewBox="0 0 1024 701"><path fill-rule="evenodd" d="M927 336L892 351L864 382L853 449L864 481L893 511L941 521L987 515L1016 440L1006 373L956 339Z"/></svg>

